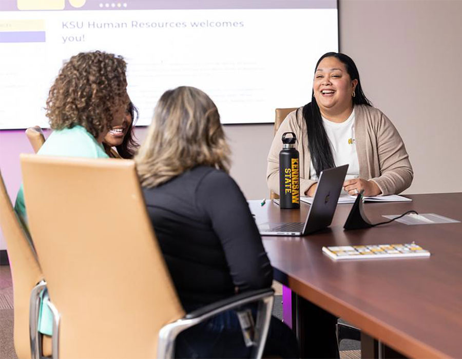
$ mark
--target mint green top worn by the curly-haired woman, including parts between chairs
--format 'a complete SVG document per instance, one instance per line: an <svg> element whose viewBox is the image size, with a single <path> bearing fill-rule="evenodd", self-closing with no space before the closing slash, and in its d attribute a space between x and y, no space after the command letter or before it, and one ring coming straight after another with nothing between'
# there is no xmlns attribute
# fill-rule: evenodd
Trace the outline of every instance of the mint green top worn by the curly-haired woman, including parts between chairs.
<svg viewBox="0 0 462 359"><path fill-rule="evenodd" d="M96 139L80 125L53 131L40 150L38 150L37 154L62 157L109 157L106 152L104 152L103 146L100 145ZM23 185L21 185L21 188L17 193L14 209L23 222L27 224ZM48 292L46 289L42 291L41 297L42 302L38 314L38 331L43 334L52 335L53 314L46 304L48 302Z"/></svg>

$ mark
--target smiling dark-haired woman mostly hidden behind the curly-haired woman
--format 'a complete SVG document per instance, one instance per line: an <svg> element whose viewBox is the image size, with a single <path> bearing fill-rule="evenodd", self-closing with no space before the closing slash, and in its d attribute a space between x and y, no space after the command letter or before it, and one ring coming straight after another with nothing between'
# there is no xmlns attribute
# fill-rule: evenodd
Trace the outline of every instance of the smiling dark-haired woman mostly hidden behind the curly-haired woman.
<svg viewBox="0 0 462 359"><path fill-rule="evenodd" d="M113 126L103 140L104 150L111 158L133 158L140 145L133 133L138 119L138 109L130 102L120 126ZM115 148L115 150L114 150Z"/></svg>

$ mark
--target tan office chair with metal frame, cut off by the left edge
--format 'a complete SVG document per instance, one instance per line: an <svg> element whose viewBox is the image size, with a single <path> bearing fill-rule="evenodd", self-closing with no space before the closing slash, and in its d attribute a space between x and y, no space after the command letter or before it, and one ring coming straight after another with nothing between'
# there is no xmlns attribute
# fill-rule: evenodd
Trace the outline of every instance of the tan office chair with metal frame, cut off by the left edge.
<svg viewBox="0 0 462 359"><path fill-rule="evenodd" d="M28 234L25 232L0 173L0 224L7 243L13 277L14 294L14 349L18 358L38 358L51 354L51 340L37 333L39 294L45 287ZM43 352L43 353L42 353Z"/></svg>

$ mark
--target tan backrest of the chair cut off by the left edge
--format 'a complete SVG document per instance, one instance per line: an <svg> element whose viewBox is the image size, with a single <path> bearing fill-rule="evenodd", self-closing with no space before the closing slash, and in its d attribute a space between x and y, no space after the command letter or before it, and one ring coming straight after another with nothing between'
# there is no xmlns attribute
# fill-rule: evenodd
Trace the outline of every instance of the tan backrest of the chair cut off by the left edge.
<svg viewBox="0 0 462 359"><path fill-rule="evenodd" d="M7 244L13 277L14 349L19 358L31 357L29 333L29 300L33 287L43 280L31 242L24 231L0 173L0 224Z"/></svg>

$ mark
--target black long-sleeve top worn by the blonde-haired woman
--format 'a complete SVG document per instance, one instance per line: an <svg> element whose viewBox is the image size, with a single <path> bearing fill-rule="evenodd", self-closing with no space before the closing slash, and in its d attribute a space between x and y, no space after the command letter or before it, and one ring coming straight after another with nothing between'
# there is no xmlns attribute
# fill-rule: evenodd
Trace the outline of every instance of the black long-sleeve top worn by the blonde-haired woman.
<svg viewBox="0 0 462 359"><path fill-rule="evenodd" d="M198 166L144 188L147 210L186 311L273 280L247 202L228 174Z"/></svg>

